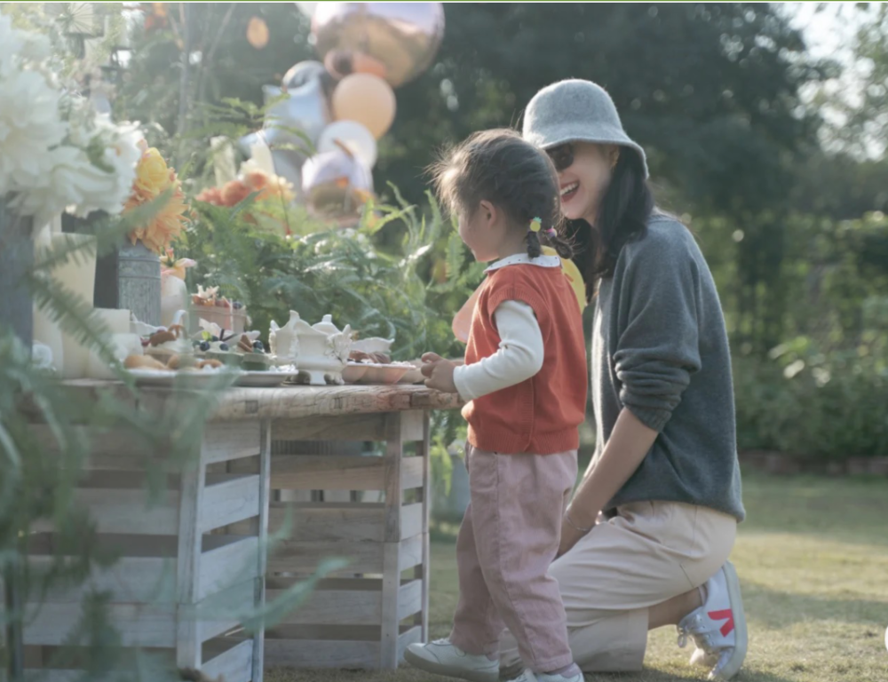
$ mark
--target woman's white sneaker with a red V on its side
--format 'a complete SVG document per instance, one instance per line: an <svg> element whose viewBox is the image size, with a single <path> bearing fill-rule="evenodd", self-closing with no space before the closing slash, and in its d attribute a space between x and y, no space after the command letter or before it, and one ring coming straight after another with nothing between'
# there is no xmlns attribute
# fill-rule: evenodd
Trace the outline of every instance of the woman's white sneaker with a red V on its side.
<svg viewBox="0 0 888 682"><path fill-rule="evenodd" d="M748 646L740 581L725 561L706 583L706 603L678 623L678 646L694 639L691 662L710 668L710 679L730 679L740 670Z"/></svg>

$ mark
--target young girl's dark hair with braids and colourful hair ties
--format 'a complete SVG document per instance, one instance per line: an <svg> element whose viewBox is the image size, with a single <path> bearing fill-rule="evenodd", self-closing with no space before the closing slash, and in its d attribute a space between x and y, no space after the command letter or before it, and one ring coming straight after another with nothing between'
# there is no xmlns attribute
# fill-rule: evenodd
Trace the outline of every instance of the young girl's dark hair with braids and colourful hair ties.
<svg viewBox="0 0 888 682"><path fill-rule="evenodd" d="M541 241L561 258L573 250L559 231L558 173L548 155L506 129L476 132L440 155L429 171L441 203L452 212L472 213L482 201L505 211L517 228L527 230L527 255L541 253ZM541 229L530 223L540 218ZM555 230L555 233L548 232Z"/></svg>

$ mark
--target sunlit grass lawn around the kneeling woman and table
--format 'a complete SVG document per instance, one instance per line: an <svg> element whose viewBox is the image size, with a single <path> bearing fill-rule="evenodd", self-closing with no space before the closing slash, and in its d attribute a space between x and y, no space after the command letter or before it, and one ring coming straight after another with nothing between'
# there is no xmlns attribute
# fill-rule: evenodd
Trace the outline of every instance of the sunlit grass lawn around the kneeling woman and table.
<svg viewBox="0 0 888 682"><path fill-rule="evenodd" d="M748 682L886 682L888 480L744 477L749 514L733 562L749 620ZM432 544L432 638L456 607L450 528ZM596 675L614 682L705 679L687 665L675 632L656 630L646 668ZM405 665L397 672L274 670L269 682L443 682Z"/></svg>

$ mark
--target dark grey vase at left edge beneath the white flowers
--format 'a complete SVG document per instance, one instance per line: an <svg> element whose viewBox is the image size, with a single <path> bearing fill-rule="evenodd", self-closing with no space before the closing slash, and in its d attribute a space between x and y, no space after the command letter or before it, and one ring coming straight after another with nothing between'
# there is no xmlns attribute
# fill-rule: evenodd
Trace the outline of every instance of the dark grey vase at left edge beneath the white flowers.
<svg viewBox="0 0 888 682"><path fill-rule="evenodd" d="M31 292L23 281L34 264L33 219L6 207L0 197L0 324L30 347L34 333Z"/></svg>

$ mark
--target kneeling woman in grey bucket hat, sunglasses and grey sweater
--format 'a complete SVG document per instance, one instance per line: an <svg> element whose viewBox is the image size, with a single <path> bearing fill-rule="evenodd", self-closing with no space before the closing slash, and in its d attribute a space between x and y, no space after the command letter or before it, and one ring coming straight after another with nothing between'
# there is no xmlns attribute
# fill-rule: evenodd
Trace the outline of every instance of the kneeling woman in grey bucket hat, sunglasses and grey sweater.
<svg viewBox="0 0 888 682"><path fill-rule="evenodd" d="M562 519L551 575L574 660L640 670L647 630L678 627L691 661L727 679L746 654L727 560L745 512L731 360L709 267L654 208L644 150L599 85L568 80L527 106L524 137L559 171L561 211L595 305L597 449ZM597 522L598 521L598 522ZM518 664L503 639L503 668Z"/></svg>

